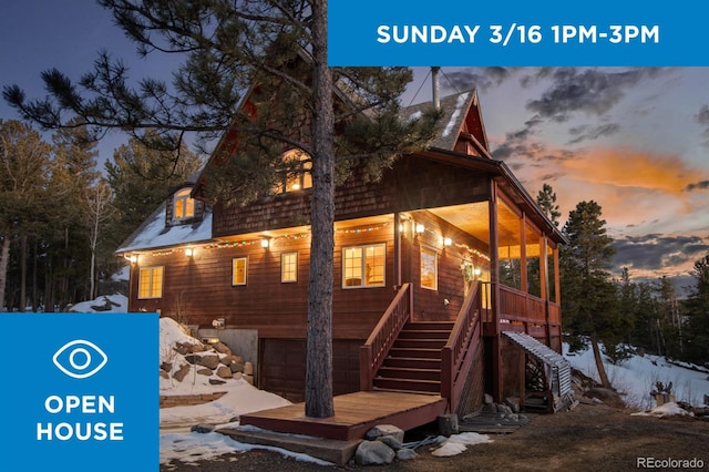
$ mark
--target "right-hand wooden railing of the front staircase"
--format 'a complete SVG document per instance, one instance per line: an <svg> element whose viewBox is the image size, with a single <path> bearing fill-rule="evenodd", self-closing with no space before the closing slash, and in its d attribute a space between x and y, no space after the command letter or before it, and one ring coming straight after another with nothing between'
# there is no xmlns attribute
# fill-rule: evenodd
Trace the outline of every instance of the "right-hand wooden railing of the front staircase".
<svg viewBox="0 0 709 472"><path fill-rule="evenodd" d="M454 411L464 384L464 376L472 362L471 342L480 338L482 290L480 280L471 283L458 319L448 342L441 351L441 397L449 399L449 409Z"/></svg>

